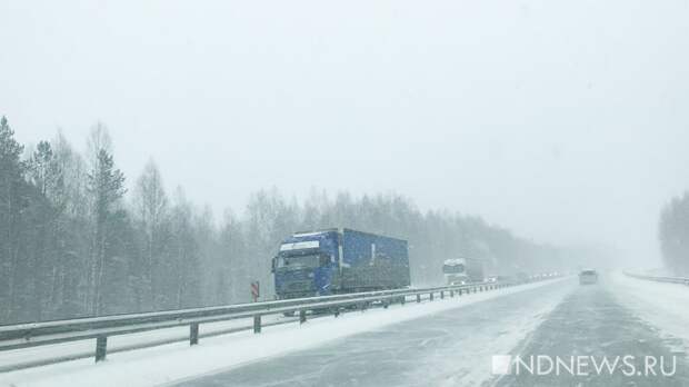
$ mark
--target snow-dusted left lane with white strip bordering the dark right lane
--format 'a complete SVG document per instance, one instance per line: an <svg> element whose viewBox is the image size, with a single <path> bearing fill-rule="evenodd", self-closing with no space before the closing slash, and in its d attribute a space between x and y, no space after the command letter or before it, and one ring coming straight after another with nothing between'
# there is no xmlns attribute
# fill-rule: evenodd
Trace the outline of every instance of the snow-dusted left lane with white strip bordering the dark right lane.
<svg viewBox="0 0 689 387"><path fill-rule="evenodd" d="M543 286L191 378L179 386L477 385L491 377L491 355L509 353L523 340L572 291L573 282L539 284Z"/></svg>

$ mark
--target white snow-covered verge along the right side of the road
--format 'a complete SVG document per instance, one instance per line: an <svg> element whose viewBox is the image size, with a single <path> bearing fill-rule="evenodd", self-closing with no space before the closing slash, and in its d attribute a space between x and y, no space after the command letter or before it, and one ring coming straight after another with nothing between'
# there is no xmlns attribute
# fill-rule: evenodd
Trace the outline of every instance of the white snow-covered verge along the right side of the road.
<svg viewBox="0 0 689 387"><path fill-rule="evenodd" d="M610 276L610 288L618 301L667 337L681 340L689 349L689 286L631 278L621 272Z"/></svg>

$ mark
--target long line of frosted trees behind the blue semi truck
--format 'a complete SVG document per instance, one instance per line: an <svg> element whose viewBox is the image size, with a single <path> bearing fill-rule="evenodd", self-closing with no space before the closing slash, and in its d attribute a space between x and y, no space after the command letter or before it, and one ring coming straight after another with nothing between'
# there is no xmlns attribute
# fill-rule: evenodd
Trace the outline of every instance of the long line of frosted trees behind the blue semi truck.
<svg viewBox="0 0 689 387"><path fill-rule="evenodd" d="M417 286L462 255L509 275L561 269L573 254L393 194L259 190L216 221L182 188L167 192L153 161L129 183L101 123L78 152L60 132L26 149L0 120L0 324L244 302L251 280L270 299L280 240L331 227L407 239Z"/></svg>

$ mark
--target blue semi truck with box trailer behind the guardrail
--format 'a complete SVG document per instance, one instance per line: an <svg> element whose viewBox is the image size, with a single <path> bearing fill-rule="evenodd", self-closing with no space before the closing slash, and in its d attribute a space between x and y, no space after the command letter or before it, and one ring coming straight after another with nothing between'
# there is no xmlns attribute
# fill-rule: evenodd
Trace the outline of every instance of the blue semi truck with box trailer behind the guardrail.
<svg viewBox="0 0 689 387"><path fill-rule="evenodd" d="M272 260L278 299L410 285L407 241L356 230L298 232Z"/></svg>

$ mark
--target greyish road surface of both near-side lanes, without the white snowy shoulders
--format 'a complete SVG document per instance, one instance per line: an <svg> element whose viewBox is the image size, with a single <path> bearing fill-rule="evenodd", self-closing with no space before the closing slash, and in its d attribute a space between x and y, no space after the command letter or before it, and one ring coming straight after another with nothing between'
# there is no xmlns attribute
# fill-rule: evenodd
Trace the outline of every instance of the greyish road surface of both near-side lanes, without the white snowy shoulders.
<svg viewBox="0 0 689 387"><path fill-rule="evenodd" d="M671 344L617 304L605 284L579 286L566 280L177 386L689 386L686 354L670 351L678 347ZM559 375L555 370L531 375L528 369L515 375L515 367L511 375L492 375L492 355L501 354L519 356L522 361L538 355L553 361L559 357L565 365L572 356L592 356L599 361L633 356L633 361L627 361L637 368L627 375L631 369L620 359L613 371L605 368L600 374L585 364L588 368L582 371L589 375L577 369L569 374L566 367ZM663 358L663 369L670 371L673 356L673 376L661 375L659 365L653 368L656 376L637 374L643 373L646 357Z"/></svg>

